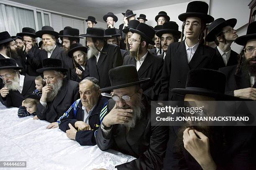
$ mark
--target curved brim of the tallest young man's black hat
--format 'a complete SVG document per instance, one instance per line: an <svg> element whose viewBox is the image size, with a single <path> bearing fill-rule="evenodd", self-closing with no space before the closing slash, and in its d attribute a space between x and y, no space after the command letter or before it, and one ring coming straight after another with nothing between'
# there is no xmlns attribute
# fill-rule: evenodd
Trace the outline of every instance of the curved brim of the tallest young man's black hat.
<svg viewBox="0 0 256 170"><path fill-rule="evenodd" d="M178 16L179 20L181 21L185 21L186 18L188 17L198 17L200 18L202 21L205 22L205 24L207 23L212 23L212 21L214 21L214 18L211 15L208 14L204 14L204 13L195 13L195 12L191 12L191 13L182 13Z"/></svg>

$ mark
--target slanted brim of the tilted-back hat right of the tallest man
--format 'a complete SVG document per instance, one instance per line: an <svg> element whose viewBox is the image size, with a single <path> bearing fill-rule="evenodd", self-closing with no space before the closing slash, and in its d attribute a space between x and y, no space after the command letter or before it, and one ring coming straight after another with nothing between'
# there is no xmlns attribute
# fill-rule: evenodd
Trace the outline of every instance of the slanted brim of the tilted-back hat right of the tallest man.
<svg viewBox="0 0 256 170"><path fill-rule="evenodd" d="M223 23L216 25L214 28L212 28L212 30L210 30L208 32L208 34L205 37L205 41L207 41L207 42L214 41L215 35L220 32L220 29L222 29L223 27L228 26L228 25L230 27L234 28L236 26L236 23L237 23L236 18L231 18L229 20L225 20Z"/></svg>

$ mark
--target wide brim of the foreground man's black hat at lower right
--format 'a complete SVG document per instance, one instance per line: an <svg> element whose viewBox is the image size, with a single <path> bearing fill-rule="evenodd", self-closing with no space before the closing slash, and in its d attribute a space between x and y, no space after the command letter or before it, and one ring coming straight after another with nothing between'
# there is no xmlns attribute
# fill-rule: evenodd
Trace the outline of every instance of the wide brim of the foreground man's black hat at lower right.
<svg viewBox="0 0 256 170"><path fill-rule="evenodd" d="M243 100L241 98L234 97L234 96L231 96L231 95L225 95L225 94L219 93L219 92L209 92L209 91L206 91L206 90L174 88L174 89L172 89L172 92L177 94L177 95L181 95L181 96L185 96L186 94L203 95L203 96L218 98L218 99L221 99L223 101L224 100L225 101Z"/></svg>

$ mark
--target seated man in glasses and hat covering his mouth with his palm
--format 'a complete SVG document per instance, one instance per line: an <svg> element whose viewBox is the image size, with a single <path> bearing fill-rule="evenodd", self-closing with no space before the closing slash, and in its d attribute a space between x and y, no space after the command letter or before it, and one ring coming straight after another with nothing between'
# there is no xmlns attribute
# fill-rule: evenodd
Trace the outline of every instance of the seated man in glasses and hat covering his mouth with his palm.
<svg viewBox="0 0 256 170"><path fill-rule="evenodd" d="M139 79L134 65L113 68L109 77L111 87L101 92L113 90L113 93L100 113L100 117L105 117L97 130L98 147L115 149L137 158L117 165L118 170L162 170L167 127L151 125L151 105L140 87L150 78Z"/></svg>

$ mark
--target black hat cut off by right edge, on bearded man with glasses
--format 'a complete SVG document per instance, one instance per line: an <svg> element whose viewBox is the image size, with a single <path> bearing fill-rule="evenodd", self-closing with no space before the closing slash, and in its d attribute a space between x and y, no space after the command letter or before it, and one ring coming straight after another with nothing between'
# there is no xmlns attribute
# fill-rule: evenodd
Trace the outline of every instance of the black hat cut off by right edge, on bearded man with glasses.
<svg viewBox="0 0 256 170"><path fill-rule="evenodd" d="M248 25L246 35L238 37L235 42L239 45L246 45L248 40L256 39L256 21Z"/></svg>

